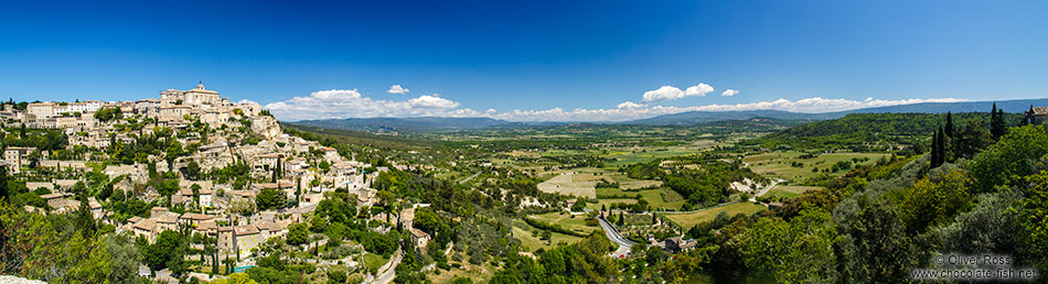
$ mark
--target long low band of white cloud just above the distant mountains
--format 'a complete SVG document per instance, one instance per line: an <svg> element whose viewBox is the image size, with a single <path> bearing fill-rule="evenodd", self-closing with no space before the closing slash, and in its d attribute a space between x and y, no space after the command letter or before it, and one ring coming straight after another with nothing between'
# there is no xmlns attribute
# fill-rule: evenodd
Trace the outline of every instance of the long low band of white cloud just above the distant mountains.
<svg viewBox="0 0 1048 284"><path fill-rule="evenodd" d="M677 89L677 91L681 90ZM784 110L815 113L920 102L956 101L965 100L955 98L902 100L866 98L864 100L852 100L814 97L799 100L777 99L771 101L748 103L706 105L693 107L659 106L625 101L616 105L614 108L608 109L552 108L545 110L515 109L499 112L495 109L478 111L470 108L459 108L461 103L458 101L442 98L437 94L419 96L417 98L407 100L381 100L363 96L356 89L333 89L314 91L309 96L295 97L284 101L271 102L266 105L265 108L269 109L270 112L272 112L278 119L286 121L332 118L427 116L458 118L485 117L509 121L625 121L685 111Z"/></svg>

